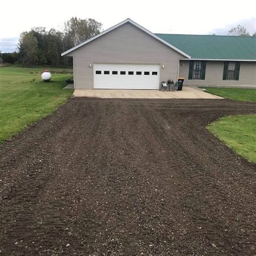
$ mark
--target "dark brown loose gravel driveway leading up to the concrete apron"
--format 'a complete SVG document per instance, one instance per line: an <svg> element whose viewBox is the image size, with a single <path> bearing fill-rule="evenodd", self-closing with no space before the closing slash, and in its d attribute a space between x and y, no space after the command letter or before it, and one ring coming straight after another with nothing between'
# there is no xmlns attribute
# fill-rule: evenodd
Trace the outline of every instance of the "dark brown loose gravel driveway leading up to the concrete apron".
<svg viewBox="0 0 256 256"><path fill-rule="evenodd" d="M238 113L256 104L70 99L0 146L1 253L255 254L256 166L205 128Z"/></svg>

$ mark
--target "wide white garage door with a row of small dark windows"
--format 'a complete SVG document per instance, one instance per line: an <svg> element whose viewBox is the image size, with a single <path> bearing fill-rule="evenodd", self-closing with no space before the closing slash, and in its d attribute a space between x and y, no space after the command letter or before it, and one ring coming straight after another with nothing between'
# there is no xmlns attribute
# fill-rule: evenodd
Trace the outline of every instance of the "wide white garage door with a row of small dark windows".
<svg viewBox="0 0 256 256"><path fill-rule="evenodd" d="M158 89L158 64L93 64L95 89Z"/></svg>

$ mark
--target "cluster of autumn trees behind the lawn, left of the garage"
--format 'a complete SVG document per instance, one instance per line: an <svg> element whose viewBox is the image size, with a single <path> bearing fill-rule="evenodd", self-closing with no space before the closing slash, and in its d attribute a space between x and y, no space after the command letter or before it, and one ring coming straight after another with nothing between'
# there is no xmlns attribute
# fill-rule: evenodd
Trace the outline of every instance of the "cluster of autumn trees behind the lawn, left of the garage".
<svg viewBox="0 0 256 256"><path fill-rule="evenodd" d="M72 17L64 23L64 30L54 28L47 31L44 27L32 28L19 37L18 52L4 53L3 61L19 62L24 66L33 65L72 65L72 59L61 57L61 53L87 39L96 36L102 23L95 19Z"/></svg>

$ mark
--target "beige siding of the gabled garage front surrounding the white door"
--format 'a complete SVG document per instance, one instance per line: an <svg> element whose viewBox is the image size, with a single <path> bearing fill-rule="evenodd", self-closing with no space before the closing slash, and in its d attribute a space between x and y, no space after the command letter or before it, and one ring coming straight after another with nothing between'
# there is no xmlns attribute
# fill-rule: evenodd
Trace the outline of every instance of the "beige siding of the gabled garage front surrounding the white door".
<svg viewBox="0 0 256 256"><path fill-rule="evenodd" d="M126 23L104 36L81 46L74 57L76 89L93 89L93 63L160 64L160 81L177 79L178 62L183 55L159 42L136 26Z"/></svg>

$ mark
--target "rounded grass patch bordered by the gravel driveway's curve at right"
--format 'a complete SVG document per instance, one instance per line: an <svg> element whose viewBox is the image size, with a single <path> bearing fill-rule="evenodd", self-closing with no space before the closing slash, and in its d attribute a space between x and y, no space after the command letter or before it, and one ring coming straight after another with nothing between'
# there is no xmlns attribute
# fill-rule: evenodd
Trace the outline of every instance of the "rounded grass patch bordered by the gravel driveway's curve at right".
<svg viewBox="0 0 256 256"><path fill-rule="evenodd" d="M224 117L207 129L240 156L256 163L256 114Z"/></svg>

